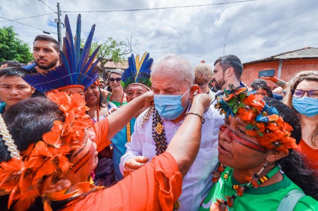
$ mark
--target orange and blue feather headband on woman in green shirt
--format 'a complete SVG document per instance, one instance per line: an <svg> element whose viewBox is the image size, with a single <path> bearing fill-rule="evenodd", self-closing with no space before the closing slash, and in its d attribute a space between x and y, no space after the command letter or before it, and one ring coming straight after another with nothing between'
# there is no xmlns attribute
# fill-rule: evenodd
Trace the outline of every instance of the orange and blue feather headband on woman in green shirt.
<svg viewBox="0 0 318 211"><path fill-rule="evenodd" d="M278 110L268 106L263 96L247 92L246 87L224 89L224 96L218 97L215 108L224 113L226 117L238 115L246 125L246 134L257 136L258 143L267 148L277 151L288 152L288 149L297 148L296 140L291 137L293 127L284 122Z"/></svg>

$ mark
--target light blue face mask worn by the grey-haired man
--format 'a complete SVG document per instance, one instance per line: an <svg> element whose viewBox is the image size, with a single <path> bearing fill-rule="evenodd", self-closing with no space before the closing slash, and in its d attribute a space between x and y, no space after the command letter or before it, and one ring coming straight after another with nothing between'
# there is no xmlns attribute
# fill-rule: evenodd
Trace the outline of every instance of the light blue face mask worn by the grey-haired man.
<svg viewBox="0 0 318 211"><path fill-rule="evenodd" d="M184 111L185 108L181 105L181 99L190 88L183 95L154 95L155 107L161 118L173 120Z"/></svg>

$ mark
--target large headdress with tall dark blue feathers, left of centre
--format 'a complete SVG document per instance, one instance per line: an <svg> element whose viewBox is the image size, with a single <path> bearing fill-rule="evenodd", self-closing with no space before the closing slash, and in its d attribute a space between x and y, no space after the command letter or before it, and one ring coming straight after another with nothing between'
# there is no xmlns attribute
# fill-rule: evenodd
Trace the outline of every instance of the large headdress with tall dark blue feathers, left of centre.
<svg viewBox="0 0 318 211"><path fill-rule="evenodd" d="M63 51L60 52L60 66L47 73L25 75L23 80L36 90L45 94L51 90L61 90L69 87L88 88L97 80L98 69L95 68L99 59L93 62L99 47L89 56L90 44L95 31L95 24L91 27L84 48L80 50L80 14L77 20L76 36L73 36L69 18L65 15L66 37L63 38Z"/></svg>

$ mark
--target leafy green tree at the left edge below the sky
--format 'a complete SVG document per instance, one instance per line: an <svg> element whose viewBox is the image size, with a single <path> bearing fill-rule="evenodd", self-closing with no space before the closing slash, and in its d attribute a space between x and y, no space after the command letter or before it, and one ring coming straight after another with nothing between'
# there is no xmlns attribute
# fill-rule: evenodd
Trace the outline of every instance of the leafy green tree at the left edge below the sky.
<svg viewBox="0 0 318 211"><path fill-rule="evenodd" d="M28 44L18 38L13 26L0 27L0 62L5 60L16 60L27 63L33 60Z"/></svg>

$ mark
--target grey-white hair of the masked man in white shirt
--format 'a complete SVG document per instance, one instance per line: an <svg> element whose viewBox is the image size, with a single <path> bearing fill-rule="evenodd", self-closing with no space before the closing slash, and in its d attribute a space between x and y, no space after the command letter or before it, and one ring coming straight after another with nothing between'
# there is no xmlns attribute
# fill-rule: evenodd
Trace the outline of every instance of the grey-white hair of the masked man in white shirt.
<svg viewBox="0 0 318 211"><path fill-rule="evenodd" d="M182 56L178 56L175 54L168 54L163 58L159 59L159 61L152 68L151 75L157 71L163 72L171 72L179 71L178 75L182 81L188 82L189 86L194 83L194 71L190 62Z"/></svg>

